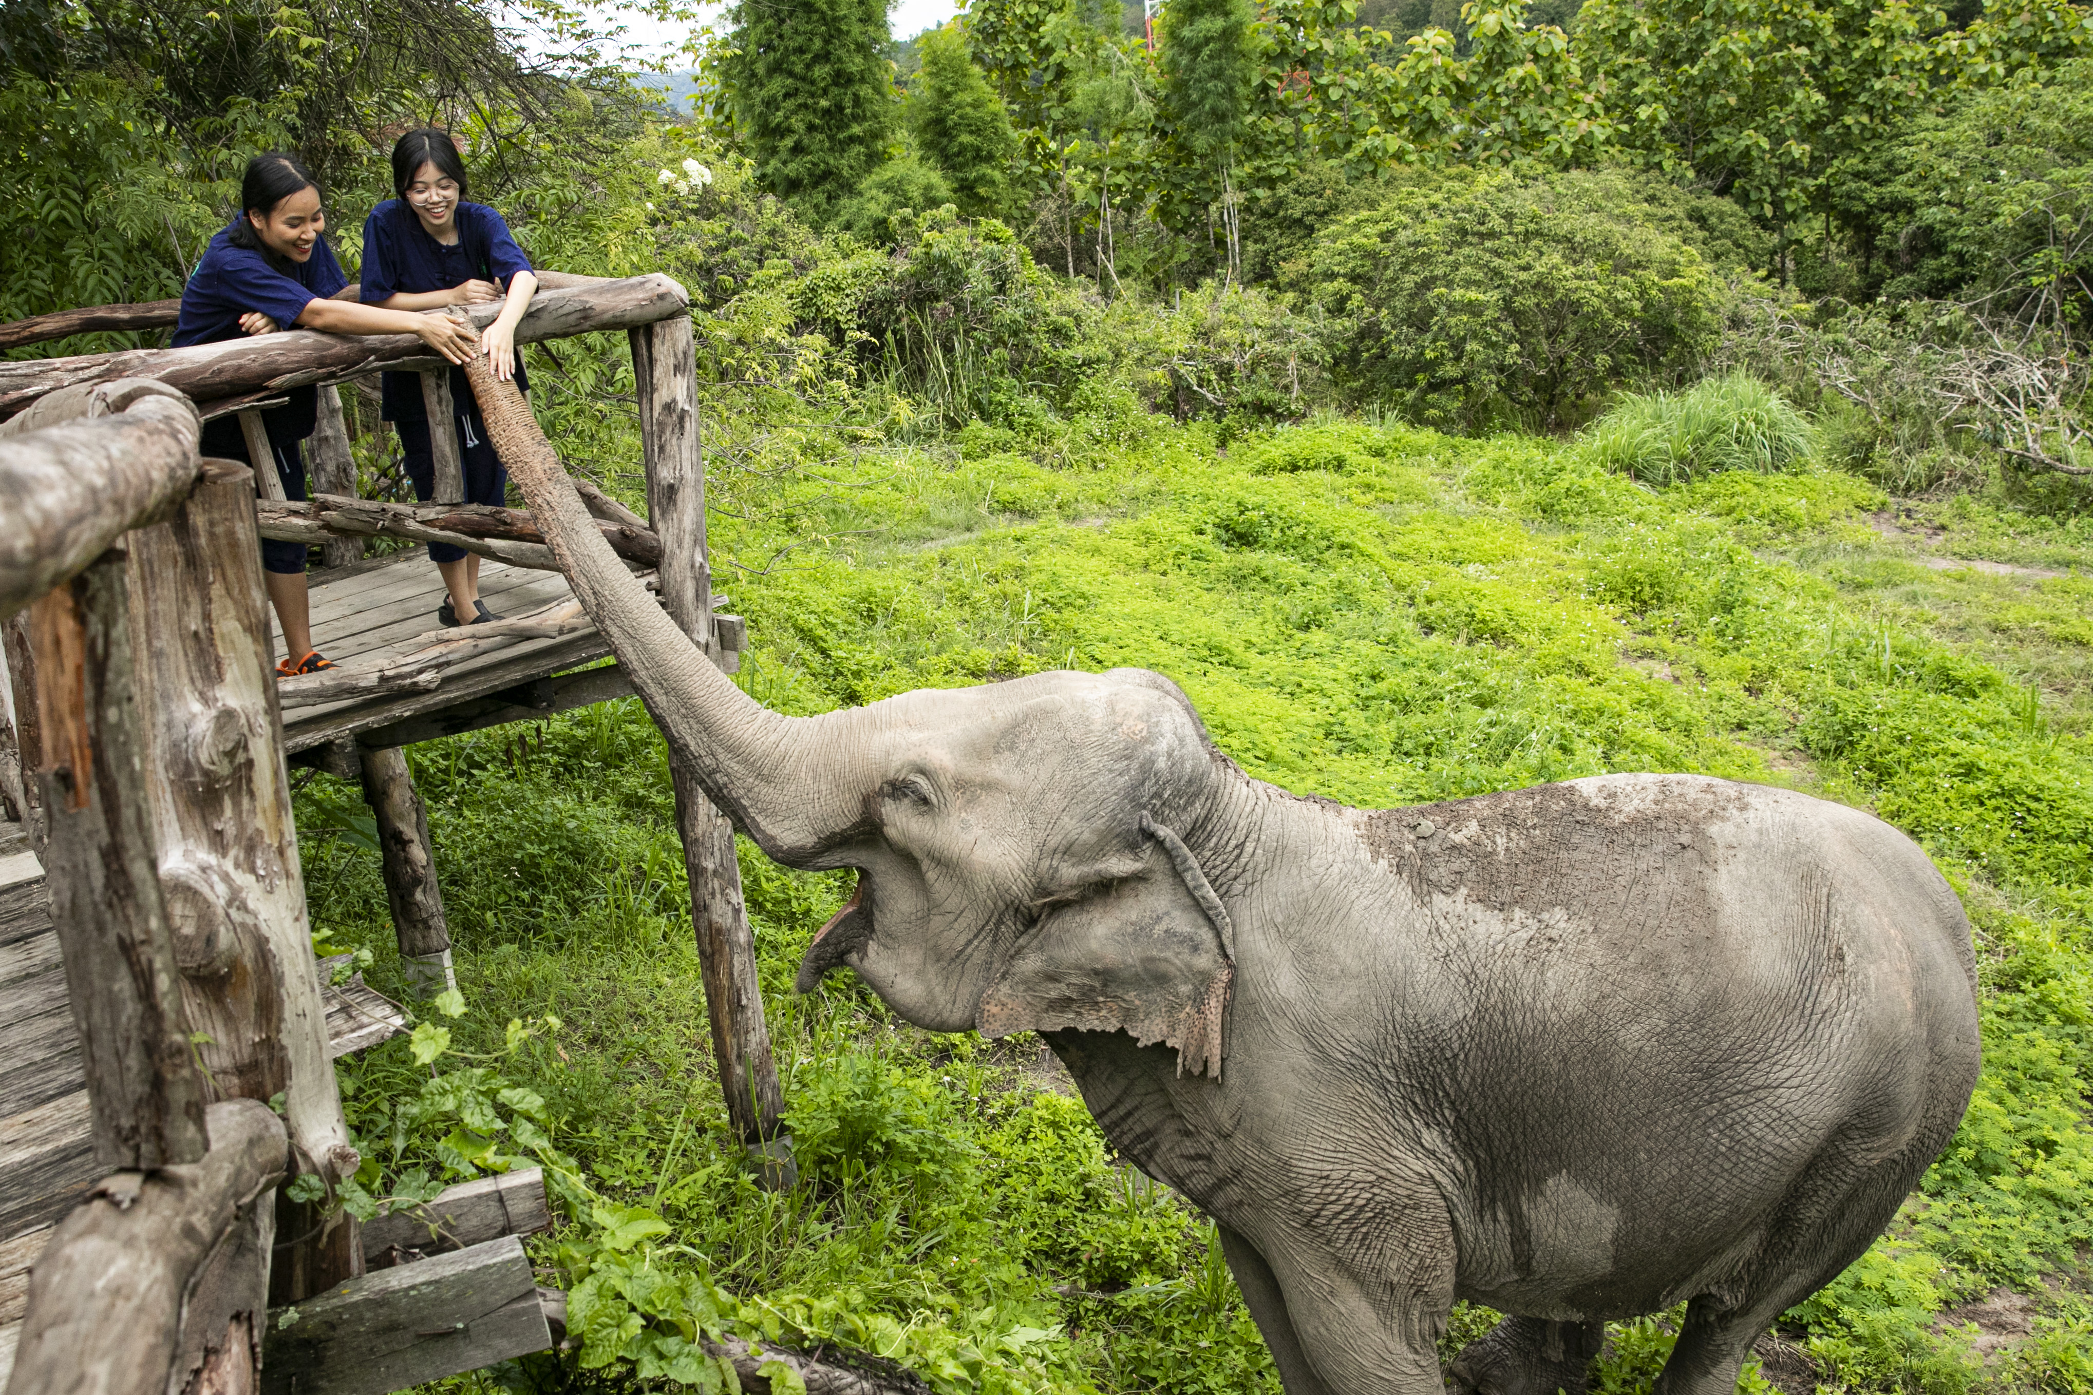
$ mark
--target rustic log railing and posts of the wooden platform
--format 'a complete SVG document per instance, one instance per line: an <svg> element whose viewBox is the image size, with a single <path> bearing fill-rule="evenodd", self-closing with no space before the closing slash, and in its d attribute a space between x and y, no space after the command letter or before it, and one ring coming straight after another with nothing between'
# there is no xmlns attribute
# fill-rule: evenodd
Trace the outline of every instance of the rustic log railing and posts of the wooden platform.
<svg viewBox="0 0 2093 1395"><path fill-rule="evenodd" d="M559 284L534 301L519 343L603 328L632 339L649 517L601 496L594 512L634 567L657 573L676 623L733 665L739 644L722 638L737 640L739 625L712 615L682 287L666 276L548 280ZM105 322L138 328L153 314L165 307L46 320L80 333ZM36 337L0 326L0 345ZM52 1127L50 1100L0 1119L0 1200L19 1184L36 1198L23 1221L63 1217L48 1234L0 1234L0 1270L21 1274L23 1255L33 1257L8 1395L362 1395L553 1341L548 1313L563 1307L536 1286L517 1240L546 1224L536 1177L452 1188L425 1213L368 1232L329 1200L291 1203L280 1188L310 1175L331 1194L356 1169L331 1060L383 1039L400 1016L360 985L347 985L360 998L324 985L312 954L287 778L289 684L272 676L257 527L360 548L381 531L373 514L400 512L350 498L354 464L333 387L402 368L448 383L448 370L406 335L278 333L0 362L0 623L17 715L4 736L21 742L19 768L0 770L15 776L0 778L0 801L23 816L48 872L50 941L69 1004L59 1025L77 1046L73 1067L48 1044L38 1060L61 1060L57 1077L77 1069L100 1177L69 1184L29 1165L54 1157L29 1138ZM322 389L312 473L320 489L347 485L331 489L333 500L306 508L257 500L257 481L276 479L260 452L264 468L199 458L203 418L257 410L301 385ZM448 416L437 389L429 395ZM456 485L454 460L448 479ZM540 546L521 510L450 508L450 527L406 512L410 527L477 550ZM329 525L339 514L352 514L347 527ZM523 565L544 565L527 556ZM578 692L601 699L620 688L599 678ZM442 707L385 709L370 730L398 734L421 722L414 730L440 734L513 719L507 711L536 715L504 703L467 694L456 709L465 715L448 724ZM364 780L402 956L425 966L433 991L450 977L450 943L425 814L398 745L345 740L354 768L341 768L341 742L314 747L312 763ZM13 765L6 745L0 765ZM672 774L728 1117L764 1180L785 1186L791 1152L753 991L733 828L687 772ZM8 929L8 897L0 887L0 996L33 998L23 1021L48 1025L59 1021L57 966L36 958L36 924ZM425 1242L408 1244L410 1234ZM402 1257L417 1261L396 1263Z"/></svg>

